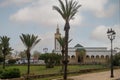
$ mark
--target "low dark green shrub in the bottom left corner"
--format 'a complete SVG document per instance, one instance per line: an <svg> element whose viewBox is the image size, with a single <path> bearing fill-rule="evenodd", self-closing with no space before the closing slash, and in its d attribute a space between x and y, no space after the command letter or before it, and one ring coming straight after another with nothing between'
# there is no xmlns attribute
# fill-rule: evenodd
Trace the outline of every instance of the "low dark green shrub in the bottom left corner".
<svg viewBox="0 0 120 80"><path fill-rule="evenodd" d="M18 78L18 77L20 77L20 70L17 68L5 69L0 73L1 79L11 79L11 78Z"/></svg>

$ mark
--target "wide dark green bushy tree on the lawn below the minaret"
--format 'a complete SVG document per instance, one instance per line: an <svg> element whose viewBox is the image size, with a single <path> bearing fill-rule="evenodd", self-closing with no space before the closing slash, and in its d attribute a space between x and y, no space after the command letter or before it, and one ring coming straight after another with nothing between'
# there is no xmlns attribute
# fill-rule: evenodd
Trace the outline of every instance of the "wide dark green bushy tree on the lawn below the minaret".
<svg viewBox="0 0 120 80"><path fill-rule="evenodd" d="M46 68L53 68L54 65L60 64L61 55L55 53L41 54L39 59L45 61Z"/></svg>

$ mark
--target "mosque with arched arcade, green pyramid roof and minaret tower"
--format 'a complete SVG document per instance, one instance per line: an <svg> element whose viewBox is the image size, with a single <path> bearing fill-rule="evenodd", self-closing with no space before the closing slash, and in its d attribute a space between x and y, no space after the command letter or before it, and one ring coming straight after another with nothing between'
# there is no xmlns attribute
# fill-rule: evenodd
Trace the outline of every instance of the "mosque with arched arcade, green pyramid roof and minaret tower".
<svg viewBox="0 0 120 80"><path fill-rule="evenodd" d="M61 54L61 46L57 38L61 37L59 27L56 29L54 52ZM113 51L113 54L115 51ZM111 56L111 51L106 47L84 47L80 44L68 48L69 64L103 64L106 63Z"/></svg>

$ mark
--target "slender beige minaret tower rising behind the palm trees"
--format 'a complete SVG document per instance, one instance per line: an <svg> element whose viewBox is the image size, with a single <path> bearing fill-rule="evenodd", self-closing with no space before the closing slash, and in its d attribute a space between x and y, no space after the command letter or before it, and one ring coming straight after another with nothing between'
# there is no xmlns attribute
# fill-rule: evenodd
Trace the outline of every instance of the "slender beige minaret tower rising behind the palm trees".
<svg viewBox="0 0 120 80"><path fill-rule="evenodd" d="M57 41L57 38L61 37L61 34L59 32L59 26L57 24L57 29L56 29L56 33L55 33L55 51L60 51L61 50L61 46L59 44L59 42Z"/></svg>

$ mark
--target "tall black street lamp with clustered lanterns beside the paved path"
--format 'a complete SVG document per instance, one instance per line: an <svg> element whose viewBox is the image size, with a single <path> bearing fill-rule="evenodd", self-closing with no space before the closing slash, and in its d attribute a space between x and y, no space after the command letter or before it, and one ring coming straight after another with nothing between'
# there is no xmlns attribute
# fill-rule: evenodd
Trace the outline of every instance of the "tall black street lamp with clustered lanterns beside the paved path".
<svg viewBox="0 0 120 80"><path fill-rule="evenodd" d="M111 78L114 77L113 75L113 49L112 49L112 42L113 40L115 39L115 34L116 32L114 30L111 29L108 29L107 31L107 36L108 36L108 39L110 39L111 41Z"/></svg>

